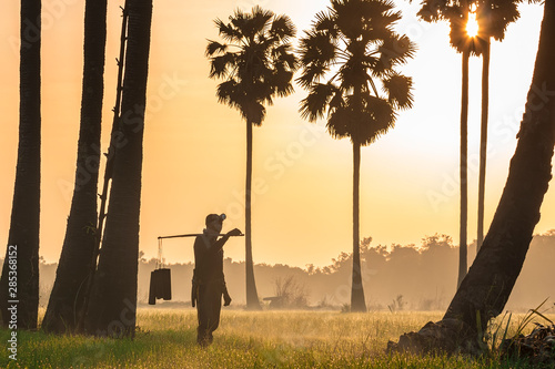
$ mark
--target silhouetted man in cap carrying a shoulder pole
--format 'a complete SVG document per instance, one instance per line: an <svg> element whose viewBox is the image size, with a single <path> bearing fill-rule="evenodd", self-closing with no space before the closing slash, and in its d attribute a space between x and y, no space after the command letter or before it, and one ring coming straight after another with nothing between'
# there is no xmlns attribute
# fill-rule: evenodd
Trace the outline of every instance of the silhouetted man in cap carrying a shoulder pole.
<svg viewBox="0 0 555 369"><path fill-rule="evenodd" d="M191 300L193 307L196 300L196 314L199 318L196 341L203 347L212 344L212 332L220 324L222 295L225 299L225 306L231 303L223 276L222 247L230 236L241 235L241 230L235 228L218 239L224 219L225 214L209 214L205 221L206 228L203 230L202 236L196 236L194 239L194 271Z"/></svg>

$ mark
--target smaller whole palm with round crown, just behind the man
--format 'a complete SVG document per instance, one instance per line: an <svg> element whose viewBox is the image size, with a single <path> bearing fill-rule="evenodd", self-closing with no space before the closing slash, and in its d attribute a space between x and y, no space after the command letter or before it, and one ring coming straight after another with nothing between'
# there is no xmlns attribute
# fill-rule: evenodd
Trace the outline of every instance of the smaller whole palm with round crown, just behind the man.
<svg viewBox="0 0 555 369"><path fill-rule="evenodd" d="M286 16L254 7L250 13L235 10L230 23L215 20L224 43L209 41L210 78L222 79L218 101L239 110L246 122L245 267L246 307L260 309L254 283L251 229L252 127L262 125L265 104L293 92L296 69L291 39L295 28Z"/></svg>

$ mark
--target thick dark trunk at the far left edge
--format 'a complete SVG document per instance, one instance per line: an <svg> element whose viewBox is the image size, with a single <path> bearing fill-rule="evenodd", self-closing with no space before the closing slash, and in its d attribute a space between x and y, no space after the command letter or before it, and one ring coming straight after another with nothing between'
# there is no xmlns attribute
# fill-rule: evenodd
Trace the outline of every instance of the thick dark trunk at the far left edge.
<svg viewBox="0 0 555 369"><path fill-rule="evenodd" d="M21 0L18 164L8 247L0 279L2 322L8 326L11 319L8 307L12 304L9 301L19 300L19 329L36 329L39 312L40 14L41 0ZM13 285L14 278L17 286Z"/></svg>

